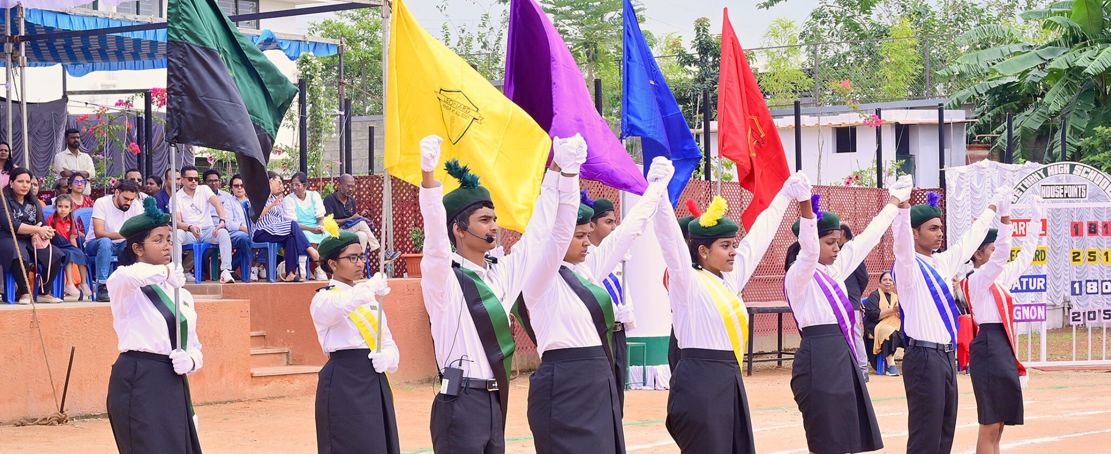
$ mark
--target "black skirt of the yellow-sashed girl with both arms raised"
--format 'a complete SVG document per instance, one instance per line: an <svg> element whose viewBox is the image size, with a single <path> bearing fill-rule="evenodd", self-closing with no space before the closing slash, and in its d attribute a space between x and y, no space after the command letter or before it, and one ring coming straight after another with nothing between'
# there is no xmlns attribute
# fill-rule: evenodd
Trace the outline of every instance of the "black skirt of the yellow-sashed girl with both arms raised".
<svg viewBox="0 0 1111 454"><path fill-rule="evenodd" d="M733 352L681 350L667 426L684 454L755 454L749 397Z"/></svg>

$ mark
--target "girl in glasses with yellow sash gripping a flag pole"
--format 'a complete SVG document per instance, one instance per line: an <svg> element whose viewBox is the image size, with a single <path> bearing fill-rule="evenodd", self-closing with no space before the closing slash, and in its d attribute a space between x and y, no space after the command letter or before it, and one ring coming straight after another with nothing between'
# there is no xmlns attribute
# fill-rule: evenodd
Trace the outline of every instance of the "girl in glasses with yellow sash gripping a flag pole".
<svg viewBox="0 0 1111 454"><path fill-rule="evenodd" d="M309 309L328 356L317 384L317 451L398 454L398 420L386 372L398 370L400 355L377 301L390 287L382 273L356 284L367 264L359 236L340 232L330 215L324 230L321 266L332 280L317 291Z"/></svg>

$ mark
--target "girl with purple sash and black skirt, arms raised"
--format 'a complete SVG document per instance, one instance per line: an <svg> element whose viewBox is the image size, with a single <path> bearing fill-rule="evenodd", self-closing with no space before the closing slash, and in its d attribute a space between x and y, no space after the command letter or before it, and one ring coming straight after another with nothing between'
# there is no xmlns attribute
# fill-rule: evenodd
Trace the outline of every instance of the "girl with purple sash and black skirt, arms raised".
<svg viewBox="0 0 1111 454"><path fill-rule="evenodd" d="M791 391L802 412L811 453L860 453L883 447L864 373L858 365L867 354L858 351L853 329L857 312L842 281L879 244L911 188L909 179L895 183L891 203L843 246L839 245L841 220L818 210L820 196L799 202L800 219L791 228L799 241L787 252L783 291L802 333L792 362Z"/></svg>

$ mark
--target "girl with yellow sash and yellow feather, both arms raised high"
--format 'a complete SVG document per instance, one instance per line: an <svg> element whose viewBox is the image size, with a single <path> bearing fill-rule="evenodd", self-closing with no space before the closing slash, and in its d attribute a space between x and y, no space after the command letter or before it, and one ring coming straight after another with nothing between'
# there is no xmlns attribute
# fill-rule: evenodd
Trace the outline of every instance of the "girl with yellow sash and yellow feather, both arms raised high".
<svg viewBox="0 0 1111 454"><path fill-rule="evenodd" d="M653 220L681 349L668 395L668 432L684 454L755 453L740 367L748 314L739 295L790 201L810 200L810 183L801 174L789 178L740 242L740 228L724 216L720 195L690 222L689 244L668 199L661 199Z"/></svg>

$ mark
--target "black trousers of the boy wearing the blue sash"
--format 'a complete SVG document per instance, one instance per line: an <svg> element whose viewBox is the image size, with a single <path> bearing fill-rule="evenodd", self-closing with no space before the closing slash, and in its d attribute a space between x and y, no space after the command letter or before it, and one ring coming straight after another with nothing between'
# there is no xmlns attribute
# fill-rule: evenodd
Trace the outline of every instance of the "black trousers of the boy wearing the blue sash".
<svg viewBox="0 0 1111 454"><path fill-rule="evenodd" d="M907 454L949 454L957 430L957 360L953 352L908 346L903 354L907 390Z"/></svg>

